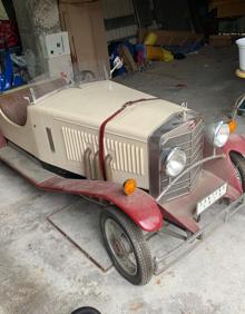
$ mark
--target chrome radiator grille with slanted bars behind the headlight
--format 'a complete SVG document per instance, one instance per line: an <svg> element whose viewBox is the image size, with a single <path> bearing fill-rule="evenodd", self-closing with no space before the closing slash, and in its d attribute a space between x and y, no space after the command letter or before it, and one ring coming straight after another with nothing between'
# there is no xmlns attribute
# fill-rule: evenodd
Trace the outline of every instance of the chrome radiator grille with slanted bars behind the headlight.
<svg viewBox="0 0 245 314"><path fill-rule="evenodd" d="M180 136L168 137L164 143L164 147L174 148L180 147L185 150L187 155L187 165L189 167L203 158L203 148L204 148L204 122L198 120L197 125L192 129L187 130ZM197 179L199 178L202 171L202 166L197 166L183 177L179 178L164 195L164 200L170 200L175 197L185 195L189 193ZM174 180L166 176L164 169L160 171L160 190L163 192L166 187Z"/></svg>

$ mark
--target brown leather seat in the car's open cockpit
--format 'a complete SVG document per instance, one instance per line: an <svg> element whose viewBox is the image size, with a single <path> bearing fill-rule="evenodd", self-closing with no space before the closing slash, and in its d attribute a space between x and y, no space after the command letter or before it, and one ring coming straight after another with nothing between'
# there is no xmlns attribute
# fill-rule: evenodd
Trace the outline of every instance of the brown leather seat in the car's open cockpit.
<svg viewBox="0 0 245 314"><path fill-rule="evenodd" d="M33 89L36 98L39 98L66 85L65 79L57 79L30 87ZM27 106L29 101L24 97L31 99L30 87L0 96L0 109L10 121L18 126L24 126L27 122Z"/></svg>

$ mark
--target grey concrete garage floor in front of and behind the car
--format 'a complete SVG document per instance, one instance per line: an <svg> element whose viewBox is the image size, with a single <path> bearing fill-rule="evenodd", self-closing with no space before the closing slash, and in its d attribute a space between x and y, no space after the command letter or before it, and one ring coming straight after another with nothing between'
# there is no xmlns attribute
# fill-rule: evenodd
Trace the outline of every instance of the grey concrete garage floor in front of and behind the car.
<svg viewBox="0 0 245 314"><path fill-rule="evenodd" d="M187 100L210 120L229 112L245 90L234 76L236 59L233 49L204 49L119 80L178 104ZM245 212L136 287L114 269L102 274L47 220L76 197L42 193L8 167L0 169L0 314L68 314L85 305L104 314L245 313Z"/></svg>

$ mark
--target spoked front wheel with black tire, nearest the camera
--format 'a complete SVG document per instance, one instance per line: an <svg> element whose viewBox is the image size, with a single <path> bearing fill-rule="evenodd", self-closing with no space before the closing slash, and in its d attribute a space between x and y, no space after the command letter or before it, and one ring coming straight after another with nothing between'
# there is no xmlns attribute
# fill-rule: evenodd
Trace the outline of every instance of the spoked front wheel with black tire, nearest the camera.
<svg viewBox="0 0 245 314"><path fill-rule="evenodd" d="M119 230L122 232L120 238L117 238L116 235L115 238L109 238L108 224L112 224L116 228L119 226ZM100 230L106 249L118 273L134 285L147 284L153 276L154 265L141 229L118 208L111 206L102 209L100 214ZM127 243L124 243L124 241ZM126 249L127 245L130 245L130 253ZM119 253L115 251L119 251ZM135 263L131 263L129 257L128 262L131 263L133 269L135 267L135 273L127 271L125 265L121 265L128 263L126 262L127 257L124 257L125 255L119 256L122 254L134 254Z"/></svg>

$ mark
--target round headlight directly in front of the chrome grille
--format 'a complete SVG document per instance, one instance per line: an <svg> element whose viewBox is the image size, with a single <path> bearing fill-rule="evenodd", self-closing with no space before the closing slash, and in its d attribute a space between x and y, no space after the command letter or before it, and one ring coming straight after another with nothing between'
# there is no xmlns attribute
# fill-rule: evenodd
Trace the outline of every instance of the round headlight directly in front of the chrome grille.
<svg viewBox="0 0 245 314"><path fill-rule="evenodd" d="M186 166L186 153L179 147L173 148L163 159L165 171L170 177L178 176Z"/></svg>

